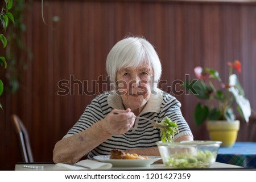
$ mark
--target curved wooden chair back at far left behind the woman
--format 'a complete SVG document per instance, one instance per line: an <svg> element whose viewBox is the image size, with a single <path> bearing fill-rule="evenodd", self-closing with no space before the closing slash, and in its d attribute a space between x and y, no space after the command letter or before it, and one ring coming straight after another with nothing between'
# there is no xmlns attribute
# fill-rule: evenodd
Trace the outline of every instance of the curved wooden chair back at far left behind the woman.
<svg viewBox="0 0 256 182"><path fill-rule="evenodd" d="M18 136L23 162L34 162L30 146L30 138L28 136L26 127L24 126L20 118L15 114L11 115L11 122L13 123L15 133Z"/></svg>

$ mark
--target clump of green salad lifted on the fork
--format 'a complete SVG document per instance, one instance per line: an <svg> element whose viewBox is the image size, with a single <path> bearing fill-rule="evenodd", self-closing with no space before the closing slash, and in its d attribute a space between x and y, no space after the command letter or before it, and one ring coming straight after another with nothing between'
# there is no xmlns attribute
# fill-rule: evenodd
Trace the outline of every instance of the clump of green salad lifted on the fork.
<svg viewBox="0 0 256 182"><path fill-rule="evenodd" d="M161 125L166 125L164 128L160 128L160 139L162 142L174 142L175 133L179 132L176 122L172 122L170 118L164 117L160 122Z"/></svg>

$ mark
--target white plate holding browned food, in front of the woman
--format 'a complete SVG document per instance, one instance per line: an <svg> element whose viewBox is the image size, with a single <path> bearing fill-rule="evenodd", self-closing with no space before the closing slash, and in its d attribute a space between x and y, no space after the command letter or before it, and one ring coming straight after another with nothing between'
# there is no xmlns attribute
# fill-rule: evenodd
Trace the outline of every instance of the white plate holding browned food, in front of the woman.
<svg viewBox="0 0 256 182"><path fill-rule="evenodd" d="M150 166L150 164L160 160L159 156L147 156L148 159L110 159L110 155L93 156L94 159L100 162L112 163L113 166L119 167L142 167Z"/></svg>

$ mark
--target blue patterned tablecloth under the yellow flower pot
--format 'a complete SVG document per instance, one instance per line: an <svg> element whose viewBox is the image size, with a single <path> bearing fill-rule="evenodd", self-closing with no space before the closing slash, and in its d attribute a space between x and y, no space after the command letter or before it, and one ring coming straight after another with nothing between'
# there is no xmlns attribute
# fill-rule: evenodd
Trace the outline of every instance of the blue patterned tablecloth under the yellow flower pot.
<svg viewBox="0 0 256 182"><path fill-rule="evenodd" d="M220 147L216 162L256 168L256 142L236 142L233 147Z"/></svg>

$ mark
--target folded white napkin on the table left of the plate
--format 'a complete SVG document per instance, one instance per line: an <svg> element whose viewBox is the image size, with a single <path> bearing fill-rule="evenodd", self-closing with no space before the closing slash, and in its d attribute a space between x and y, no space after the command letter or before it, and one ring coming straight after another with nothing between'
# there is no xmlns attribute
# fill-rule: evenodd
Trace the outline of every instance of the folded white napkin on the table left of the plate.
<svg viewBox="0 0 256 182"><path fill-rule="evenodd" d="M65 167L69 170L104 170L112 168L111 163L98 162L89 159L81 160L75 164L57 163L55 166Z"/></svg>

